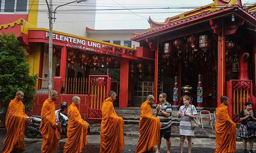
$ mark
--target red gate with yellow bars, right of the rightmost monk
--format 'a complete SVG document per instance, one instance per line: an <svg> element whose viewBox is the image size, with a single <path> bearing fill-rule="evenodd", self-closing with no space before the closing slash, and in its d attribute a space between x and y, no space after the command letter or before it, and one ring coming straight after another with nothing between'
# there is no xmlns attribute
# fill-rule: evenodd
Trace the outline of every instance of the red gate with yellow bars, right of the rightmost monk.
<svg viewBox="0 0 256 153"><path fill-rule="evenodd" d="M244 104L252 100L252 81L230 80L226 89L229 98L228 114L235 123L239 123L239 114L245 109Z"/></svg>

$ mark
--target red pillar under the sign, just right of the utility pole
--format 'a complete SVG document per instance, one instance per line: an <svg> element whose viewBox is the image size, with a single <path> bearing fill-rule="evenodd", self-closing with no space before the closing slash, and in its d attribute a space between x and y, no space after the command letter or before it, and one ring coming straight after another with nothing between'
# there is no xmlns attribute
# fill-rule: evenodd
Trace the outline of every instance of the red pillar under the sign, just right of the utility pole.
<svg viewBox="0 0 256 153"><path fill-rule="evenodd" d="M60 72L59 76L61 77L62 86L65 86L66 79L66 67L67 67L67 47L61 47L61 57L60 57Z"/></svg>

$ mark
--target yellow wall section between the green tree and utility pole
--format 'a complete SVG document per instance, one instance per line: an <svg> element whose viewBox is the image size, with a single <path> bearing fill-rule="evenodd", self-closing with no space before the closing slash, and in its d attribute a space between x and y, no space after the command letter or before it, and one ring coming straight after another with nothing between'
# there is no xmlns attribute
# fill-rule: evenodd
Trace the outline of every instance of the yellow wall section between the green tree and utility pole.
<svg viewBox="0 0 256 153"><path fill-rule="evenodd" d="M35 75L39 73L40 65L40 44L35 43L30 45L30 55L28 56L28 63L30 66L30 75ZM37 84L36 84L37 89Z"/></svg>

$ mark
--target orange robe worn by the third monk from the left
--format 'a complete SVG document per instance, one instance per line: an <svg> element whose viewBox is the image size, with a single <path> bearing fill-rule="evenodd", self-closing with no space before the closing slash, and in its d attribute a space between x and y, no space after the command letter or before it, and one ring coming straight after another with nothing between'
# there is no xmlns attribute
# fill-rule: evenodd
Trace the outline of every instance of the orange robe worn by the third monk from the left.
<svg viewBox="0 0 256 153"><path fill-rule="evenodd" d="M68 138L63 153L80 153L87 145L87 123L82 119L75 104L69 106L68 116Z"/></svg>

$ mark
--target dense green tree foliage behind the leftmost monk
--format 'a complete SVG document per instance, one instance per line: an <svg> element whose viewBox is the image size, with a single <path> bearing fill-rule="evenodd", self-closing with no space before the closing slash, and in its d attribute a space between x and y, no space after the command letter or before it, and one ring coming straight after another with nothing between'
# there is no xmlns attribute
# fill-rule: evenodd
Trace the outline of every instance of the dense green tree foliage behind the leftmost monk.
<svg viewBox="0 0 256 153"><path fill-rule="evenodd" d="M18 90L24 92L26 111L33 108L37 76L30 76L26 50L19 45L15 35L0 35L0 109L6 111Z"/></svg>

